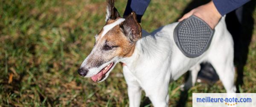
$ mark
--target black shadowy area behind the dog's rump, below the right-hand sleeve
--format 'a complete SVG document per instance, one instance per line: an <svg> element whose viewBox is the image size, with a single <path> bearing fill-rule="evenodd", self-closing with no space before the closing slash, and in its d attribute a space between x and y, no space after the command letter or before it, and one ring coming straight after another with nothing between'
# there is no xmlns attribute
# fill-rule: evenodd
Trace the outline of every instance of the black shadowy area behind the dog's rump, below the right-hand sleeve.
<svg viewBox="0 0 256 107"><path fill-rule="evenodd" d="M244 66L247 61L249 45L253 35L253 11L256 1L251 0L237 11L232 11L226 17L227 29L233 36L234 40L234 62L237 71L236 89L239 93L239 87L244 84ZM242 13L240 13L242 12ZM241 17L236 17L236 14L242 14Z"/></svg>

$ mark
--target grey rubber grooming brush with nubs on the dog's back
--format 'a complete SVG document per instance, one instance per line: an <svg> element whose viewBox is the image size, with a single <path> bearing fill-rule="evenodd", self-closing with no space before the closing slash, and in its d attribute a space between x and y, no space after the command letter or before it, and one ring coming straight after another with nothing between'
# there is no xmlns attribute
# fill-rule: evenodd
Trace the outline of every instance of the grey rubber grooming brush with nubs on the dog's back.
<svg viewBox="0 0 256 107"><path fill-rule="evenodd" d="M189 58L202 55L211 44L214 29L197 16L181 21L174 30L174 40L180 51Z"/></svg>

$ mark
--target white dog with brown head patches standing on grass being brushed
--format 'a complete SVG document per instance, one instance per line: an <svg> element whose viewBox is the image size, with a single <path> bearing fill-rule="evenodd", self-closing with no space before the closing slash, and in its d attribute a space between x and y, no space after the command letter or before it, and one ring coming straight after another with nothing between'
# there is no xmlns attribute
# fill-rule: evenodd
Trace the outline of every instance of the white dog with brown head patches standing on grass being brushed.
<svg viewBox="0 0 256 107"><path fill-rule="evenodd" d="M155 107L167 107L169 82L190 71L184 89L192 87L200 63L209 62L215 68L227 93L235 93L233 39L227 31L224 17L215 27L209 49L197 58L188 58L175 44L173 31L178 22L148 33L137 22L136 13L119 16L114 0L107 0L106 24L95 36L95 45L78 69L83 77L102 82L117 63L123 63L128 85L130 107L139 107L144 90Z"/></svg>

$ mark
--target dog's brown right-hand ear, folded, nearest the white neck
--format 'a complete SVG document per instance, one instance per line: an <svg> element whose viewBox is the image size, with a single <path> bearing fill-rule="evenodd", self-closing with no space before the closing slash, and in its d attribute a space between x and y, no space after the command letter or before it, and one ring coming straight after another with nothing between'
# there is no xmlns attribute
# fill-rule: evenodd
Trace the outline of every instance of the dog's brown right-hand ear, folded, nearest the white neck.
<svg viewBox="0 0 256 107"><path fill-rule="evenodd" d="M125 18L125 21L120 26L123 28L125 36L130 38L131 42L141 38L141 26L136 19L134 11Z"/></svg>

